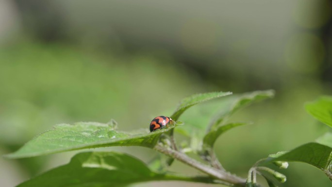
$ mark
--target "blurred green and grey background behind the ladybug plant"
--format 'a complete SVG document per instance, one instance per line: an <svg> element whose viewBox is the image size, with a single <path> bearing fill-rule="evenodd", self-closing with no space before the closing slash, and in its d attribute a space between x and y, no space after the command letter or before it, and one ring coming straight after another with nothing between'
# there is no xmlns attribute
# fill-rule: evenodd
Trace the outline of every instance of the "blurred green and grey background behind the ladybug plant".
<svg viewBox="0 0 332 187"><path fill-rule="evenodd" d="M233 117L253 125L216 143L224 167L246 177L258 159L328 130L303 103L332 94L331 18L330 0L0 0L0 153L58 123L116 119L121 130L148 128L194 93L275 89L274 99ZM112 150L145 161L154 154ZM1 187L73 154L0 158ZM178 162L171 170L193 173ZM291 163L284 173L284 187L331 186L309 165ZM209 186L133 186L157 185Z"/></svg>

